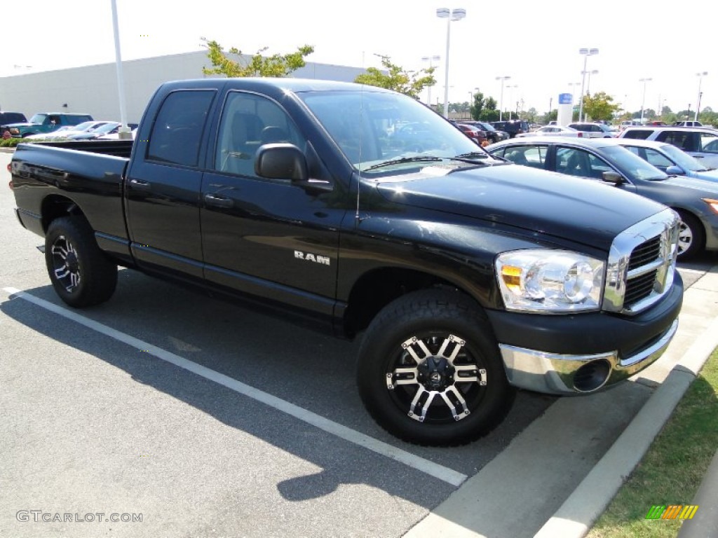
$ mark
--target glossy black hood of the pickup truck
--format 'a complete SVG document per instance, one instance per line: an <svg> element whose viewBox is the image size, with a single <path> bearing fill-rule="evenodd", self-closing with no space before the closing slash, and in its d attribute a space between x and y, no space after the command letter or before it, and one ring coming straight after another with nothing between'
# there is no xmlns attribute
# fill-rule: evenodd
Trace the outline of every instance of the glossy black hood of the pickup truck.
<svg viewBox="0 0 718 538"><path fill-rule="evenodd" d="M441 172L439 172L440 174ZM461 214L609 250L615 236L665 207L610 184L516 164L378 180L396 204Z"/></svg>

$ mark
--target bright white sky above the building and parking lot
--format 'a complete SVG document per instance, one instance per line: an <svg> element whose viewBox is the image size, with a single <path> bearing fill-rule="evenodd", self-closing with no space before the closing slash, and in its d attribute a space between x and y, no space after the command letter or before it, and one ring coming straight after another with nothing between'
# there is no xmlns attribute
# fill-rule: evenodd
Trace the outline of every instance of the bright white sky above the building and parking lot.
<svg viewBox="0 0 718 538"><path fill-rule="evenodd" d="M673 111L718 108L712 30L717 0L116 0L123 60L200 50L200 38L253 54L314 46L313 62L381 67L387 55L407 70L440 56L432 102L444 100L447 19L437 8L464 8L450 23L449 100L475 88L504 107L523 100L539 113L556 108L559 93L578 99L584 57L590 90L605 91L630 111L659 103ZM115 59L111 0L9 0L2 7L5 46L0 77ZM696 73L707 71L705 77ZM197 76L200 76L197 73ZM588 82L586 80L586 82ZM1 83L1 81L0 81ZM426 92L422 96L426 100Z"/></svg>

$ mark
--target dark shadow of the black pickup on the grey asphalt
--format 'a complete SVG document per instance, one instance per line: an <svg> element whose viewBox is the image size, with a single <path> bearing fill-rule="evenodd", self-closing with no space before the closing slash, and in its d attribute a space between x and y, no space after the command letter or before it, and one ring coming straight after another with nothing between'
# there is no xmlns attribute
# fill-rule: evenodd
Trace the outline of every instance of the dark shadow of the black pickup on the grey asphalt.
<svg viewBox="0 0 718 538"><path fill-rule="evenodd" d="M50 285L27 293L67 308ZM432 509L455 489L173 364L148 360L127 344L27 301L14 298L1 303L0 310L47 338L124 370L136 382L320 467L319 473L277 483L288 501L317 499L342 484L365 483ZM498 455L555 400L520 392L504 423L485 438L457 448L419 447L388 435L363 409L354 377L358 342L307 331L129 270L120 272L111 301L74 312L467 476Z"/></svg>

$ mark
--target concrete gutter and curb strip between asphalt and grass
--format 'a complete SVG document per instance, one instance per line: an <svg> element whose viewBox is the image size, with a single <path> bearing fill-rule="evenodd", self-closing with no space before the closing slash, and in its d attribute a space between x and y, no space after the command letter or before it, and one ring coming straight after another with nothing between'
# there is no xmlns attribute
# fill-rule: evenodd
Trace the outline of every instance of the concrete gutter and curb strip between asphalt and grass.
<svg viewBox="0 0 718 538"><path fill-rule="evenodd" d="M718 346L718 266L686 290L680 319L658 362L612 390L558 400L405 536L583 537Z"/></svg>

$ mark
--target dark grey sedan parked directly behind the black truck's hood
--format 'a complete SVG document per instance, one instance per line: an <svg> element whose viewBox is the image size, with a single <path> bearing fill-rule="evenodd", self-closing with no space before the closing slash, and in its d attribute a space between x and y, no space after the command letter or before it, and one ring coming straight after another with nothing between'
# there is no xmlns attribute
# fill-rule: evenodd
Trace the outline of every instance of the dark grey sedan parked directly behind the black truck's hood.
<svg viewBox="0 0 718 538"><path fill-rule="evenodd" d="M640 194L681 216L679 258L718 250L718 184L668 176L620 145L617 139L514 138L486 150L516 164L595 179Z"/></svg>

